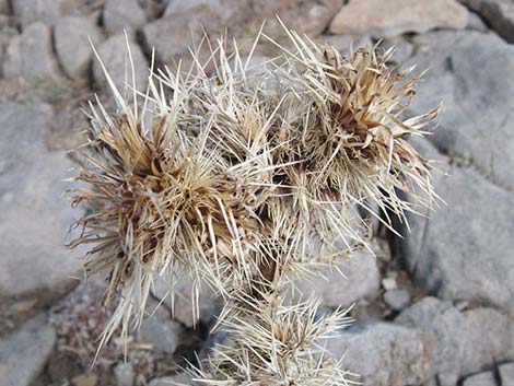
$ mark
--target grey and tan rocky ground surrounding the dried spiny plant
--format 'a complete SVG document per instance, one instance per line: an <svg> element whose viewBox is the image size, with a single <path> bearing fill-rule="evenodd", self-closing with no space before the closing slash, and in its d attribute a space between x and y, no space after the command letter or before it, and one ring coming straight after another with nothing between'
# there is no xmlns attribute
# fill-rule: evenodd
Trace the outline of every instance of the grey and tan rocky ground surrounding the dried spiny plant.
<svg viewBox="0 0 514 386"><path fill-rule="evenodd" d="M401 239L377 229L377 258L343 266L348 280L302 283L326 308L357 302L357 323L329 349L364 385L514 385L512 0L0 0L1 386L157 386L205 354L220 307L207 293L196 328L184 300L173 316L165 300L126 361L114 340L91 370L108 309L102 282L80 283L81 252L62 247L77 213L61 196L66 150L87 125L80 108L93 92L108 101L87 36L121 83L127 30L144 86L152 47L173 65L201 25L245 39L262 20L280 42L274 14L340 50L395 45L393 66L430 68L409 114L444 102L414 144L447 172L434 179L447 206L412 218Z"/></svg>

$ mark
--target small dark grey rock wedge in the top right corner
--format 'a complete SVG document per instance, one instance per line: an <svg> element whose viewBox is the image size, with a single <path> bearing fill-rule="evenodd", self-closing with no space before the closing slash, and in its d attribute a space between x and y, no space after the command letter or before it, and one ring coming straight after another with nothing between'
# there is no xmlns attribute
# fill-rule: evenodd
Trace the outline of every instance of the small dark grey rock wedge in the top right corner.
<svg viewBox="0 0 514 386"><path fill-rule="evenodd" d="M514 3L511 0L459 0L480 14L498 34L514 43Z"/></svg>

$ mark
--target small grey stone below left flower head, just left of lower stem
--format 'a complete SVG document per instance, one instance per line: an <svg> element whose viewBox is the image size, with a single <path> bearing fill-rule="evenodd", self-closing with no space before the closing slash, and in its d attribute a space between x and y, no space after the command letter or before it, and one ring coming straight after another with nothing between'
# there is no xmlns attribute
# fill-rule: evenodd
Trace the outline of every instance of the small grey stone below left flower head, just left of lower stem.
<svg viewBox="0 0 514 386"><path fill-rule="evenodd" d="M150 317L143 321L138 336L141 341L151 343L153 348L173 354L180 343L182 330L182 326L171 318L161 320Z"/></svg>

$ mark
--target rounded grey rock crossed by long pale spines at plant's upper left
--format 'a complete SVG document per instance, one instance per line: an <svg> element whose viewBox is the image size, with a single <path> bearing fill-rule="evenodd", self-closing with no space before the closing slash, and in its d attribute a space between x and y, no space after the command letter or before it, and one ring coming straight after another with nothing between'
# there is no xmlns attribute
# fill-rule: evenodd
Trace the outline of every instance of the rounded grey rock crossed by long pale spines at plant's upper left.
<svg viewBox="0 0 514 386"><path fill-rule="evenodd" d="M133 40L129 39L130 50L132 54L132 61L135 66L136 73L136 89L138 91L144 91L148 85L148 75L149 70L147 66L147 59L144 58L143 52L139 45ZM102 58L107 71L113 78L118 91L124 94L124 90L127 86L127 95L132 94L132 75L130 61L128 59L127 43L124 34L115 35L109 37L107 40L103 42L97 47L98 55ZM127 71L126 71L127 69ZM127 74L127 82L126 77ZM95 58L93 60L93 75L96 84L104 91L109 91L107 80L102 71L98 60ZM128 85L126 84L128 83Z"/></svg>

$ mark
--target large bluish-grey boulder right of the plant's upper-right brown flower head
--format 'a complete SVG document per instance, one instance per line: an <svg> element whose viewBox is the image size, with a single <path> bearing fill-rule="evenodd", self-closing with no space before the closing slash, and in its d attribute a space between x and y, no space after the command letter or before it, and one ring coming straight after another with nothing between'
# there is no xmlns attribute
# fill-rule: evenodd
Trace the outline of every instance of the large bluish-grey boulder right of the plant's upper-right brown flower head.
<svg viewBox="0 0 514 386"><path fill-rule="evenodd" d="M430 67L430 72L418 87L411 113L444 101L441 125L430 140L514 191L514 46L475 31L431 33L417 44L421 52L407 66Z"/></svg>

